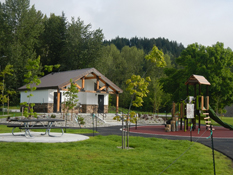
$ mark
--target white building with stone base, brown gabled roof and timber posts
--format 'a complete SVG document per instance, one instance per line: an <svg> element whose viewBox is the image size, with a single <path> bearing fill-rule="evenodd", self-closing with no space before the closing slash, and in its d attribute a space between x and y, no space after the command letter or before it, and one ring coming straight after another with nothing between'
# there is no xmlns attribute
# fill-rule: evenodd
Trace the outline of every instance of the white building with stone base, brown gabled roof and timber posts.
<svg viewBox="0 0 233 175"><path fill-rule="evenodd" d="M107 113L109 94L116 95L116 112L119 107L119 94L123 90L102 75L95 68L86 68L64 72L52 72L42 77L40 85L36 86L30 103L35 103L35 112L62 112L62 102L66 99L63 92L68 90L70 79L75 83L78 93L78 103L74 112ZM26 85L18 89L20 102L28 102L25 92Z"/></svg>

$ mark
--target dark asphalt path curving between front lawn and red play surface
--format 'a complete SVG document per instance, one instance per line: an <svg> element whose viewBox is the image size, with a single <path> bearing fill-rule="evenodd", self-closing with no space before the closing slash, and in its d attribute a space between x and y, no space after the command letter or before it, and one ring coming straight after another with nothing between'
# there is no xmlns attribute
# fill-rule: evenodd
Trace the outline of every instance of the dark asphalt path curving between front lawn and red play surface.
<svg viewBox="0 0 233 175"><path fill-rule="evenodd" d="M160 127L160 126L157 126ZM222 127L221 127L222 128ZM111 126L111 127L100 127L97 128L98 134L95 135L121 135L121 126ZM164 129L164 126L163 126ZM220 129L220 128L219 128ZM133 129L131 128L131 131ZM228 130L232 135L233 132ZM183 132L183 131L182 131ZM226 132L226 131L224 131ZM131 136L141 136L141 137L156 137L156 138L163 138L163 139L170 139L170 140L190 140L189 136L178 136L178 135L172 135L173 132L169 132L171 135L169 135L166 132L163 132L164 134L155 134L155 133L143 133L143 132L131 132ZM228 138L220 138L220 137L215 137L215 134L217 132L214 131L214 149L216 151L221 152L222 154L226 155L233 161L233 138L228 137ZM92 136L92 134L85 134L87 136ZM207 131L207 137L210 135L210 132ZM217 134L216 134L217 135ZM208 147L211 147L211 139L206 139L207 137L193 137L193 141L196 141L198 143L201 143L203 145L206 145ZM224 137L224 135L223 135Z"/></svg>

